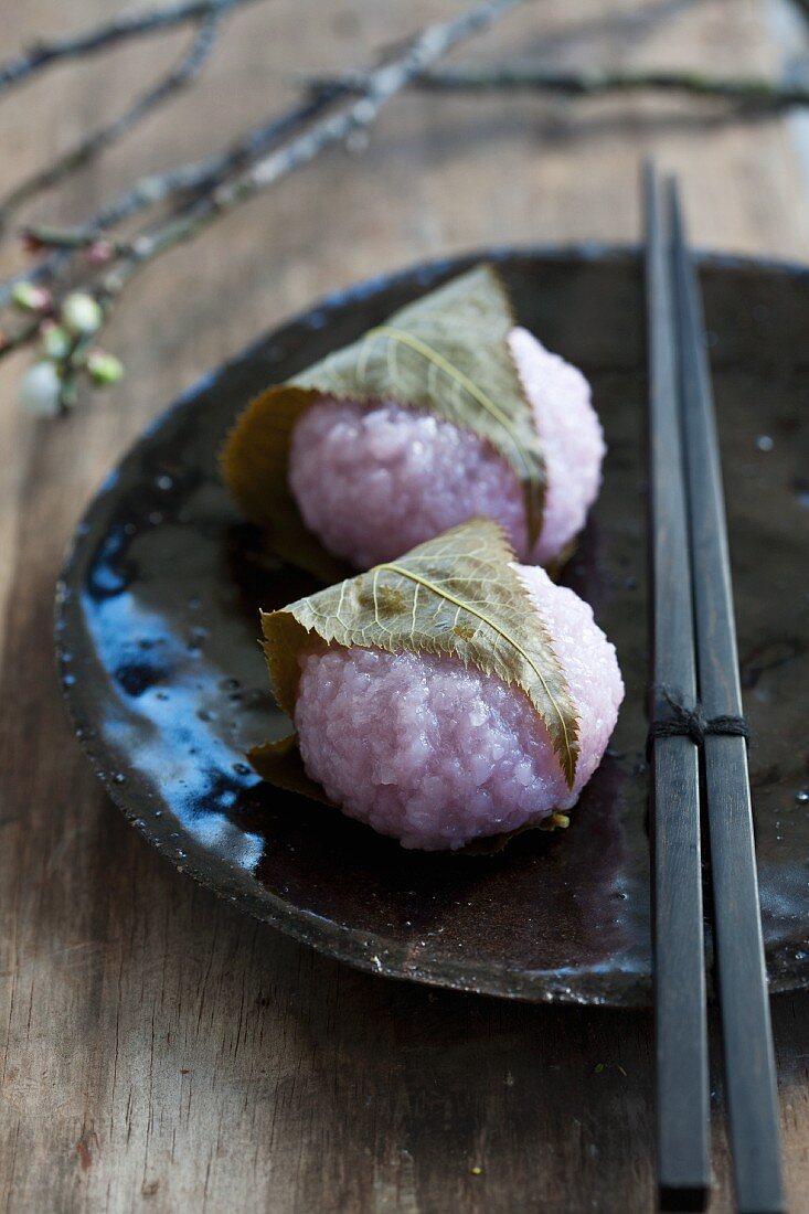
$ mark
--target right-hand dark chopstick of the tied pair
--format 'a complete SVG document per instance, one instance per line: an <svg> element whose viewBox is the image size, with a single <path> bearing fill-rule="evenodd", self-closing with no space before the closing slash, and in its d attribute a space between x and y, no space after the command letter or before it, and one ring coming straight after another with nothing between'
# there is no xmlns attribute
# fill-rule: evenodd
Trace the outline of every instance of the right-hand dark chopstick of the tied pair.
<svg viewBox="0 0 809 1214"><path fill-rule="evenodd" d="M742 716L742 700L719 446L700 290L674 182L669 208L700 700L707 720L732 719ZM736 1201L741 1214L776 1214L785 1197L745 738L708 733L703 762Z"/></svg>

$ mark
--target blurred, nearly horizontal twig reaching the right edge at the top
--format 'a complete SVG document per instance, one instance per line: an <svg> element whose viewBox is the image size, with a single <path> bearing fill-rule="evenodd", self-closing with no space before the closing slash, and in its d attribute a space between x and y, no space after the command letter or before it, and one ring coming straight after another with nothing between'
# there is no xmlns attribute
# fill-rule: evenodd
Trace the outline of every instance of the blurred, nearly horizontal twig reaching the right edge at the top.
<svg viewBox="0 0 809 1214"><path fill-rule="evenodd" d="M809 11L809 0L807 7ZM309 76L305 83L313 96L323 89L346 89L362 93L367 87L367 75L362 72L346 72L334 76ZM496 63L435 68L423 73L414 84L436 92L533 91L594 97L609 92L664 91L717 97L757 109L809 106L807 86L779 84L758 76L717 78L700 72L555 72L531 63Z"/></svg>

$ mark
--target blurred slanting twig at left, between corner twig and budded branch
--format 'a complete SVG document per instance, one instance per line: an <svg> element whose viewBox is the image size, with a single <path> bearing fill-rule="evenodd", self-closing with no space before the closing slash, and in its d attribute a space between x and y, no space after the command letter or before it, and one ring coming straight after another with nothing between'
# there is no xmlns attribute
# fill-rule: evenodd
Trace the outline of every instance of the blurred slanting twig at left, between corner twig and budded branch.
<svg viewBox="0 0 809 1214"><path fill-rule="evenodd" d="M32 174L18 186L15 186L0 200L0 228L9 222L10 216L34 194L57 186L81 165L95 159L104 148L128 135L138 123L142 123L154 109L162 106L172 93L186 89L199 75L205 61L214 49L219 32L220 13L213 12L200 24L191 49L180 62L171 68L155 85L137 97L129 109L114 118L106 126L100 126L74 147L50 164L46 169Z"/></svg>

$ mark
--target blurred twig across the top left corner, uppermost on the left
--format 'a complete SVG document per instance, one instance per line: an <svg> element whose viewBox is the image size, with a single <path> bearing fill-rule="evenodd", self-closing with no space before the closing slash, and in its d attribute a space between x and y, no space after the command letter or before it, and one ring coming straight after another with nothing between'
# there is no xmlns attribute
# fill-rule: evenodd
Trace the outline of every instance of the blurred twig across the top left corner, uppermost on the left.
<svg viewBox="0 0 809 1214"><path fill-rule="evenodd" d="M21 84L60 59L84 58L130 38L159 34L188 22L204 21L214 13L222 16L247 4L255 4L255 0L183 0L164 8L147 8L117 17L81 34L34 42L27 51L0 63L0 91Z"/></svg>

